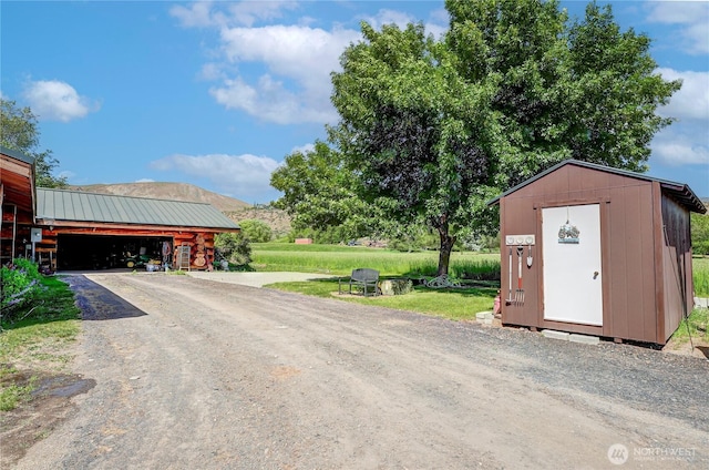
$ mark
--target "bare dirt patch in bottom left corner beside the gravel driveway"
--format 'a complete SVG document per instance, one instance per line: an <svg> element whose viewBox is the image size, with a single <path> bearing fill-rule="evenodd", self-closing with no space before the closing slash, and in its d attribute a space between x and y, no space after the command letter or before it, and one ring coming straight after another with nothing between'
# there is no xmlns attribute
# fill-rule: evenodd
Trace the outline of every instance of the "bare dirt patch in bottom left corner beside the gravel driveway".
<svg viewBox="0 0 709 470"><path fill-rule="evenodd" d="M0 417L0 468L10 468L30 447L48 437L74 411L71 398L96 385L95 380L78 375L47 375L35 370L8 375L1 385L25 387L30 384L37 388L29 401Z"/></svg>

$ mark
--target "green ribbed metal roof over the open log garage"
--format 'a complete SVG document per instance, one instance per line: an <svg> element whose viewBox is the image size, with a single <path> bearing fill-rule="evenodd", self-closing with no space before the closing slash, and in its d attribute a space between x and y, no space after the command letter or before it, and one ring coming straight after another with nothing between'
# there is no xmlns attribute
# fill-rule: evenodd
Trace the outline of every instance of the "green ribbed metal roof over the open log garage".
<svg viewBox="0 0 709 470"><path fill-rule="evenodd" d="M37 218L48 221L239 228L212 204L115 196L83 191L37 190Z"/></svg>

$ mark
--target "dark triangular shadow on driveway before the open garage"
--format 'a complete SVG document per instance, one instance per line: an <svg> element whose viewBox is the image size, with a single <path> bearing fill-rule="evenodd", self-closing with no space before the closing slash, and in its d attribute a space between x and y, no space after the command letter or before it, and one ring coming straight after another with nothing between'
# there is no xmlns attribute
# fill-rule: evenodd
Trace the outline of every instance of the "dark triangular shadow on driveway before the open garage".
<svg viewBox="0 0 709 470"><path fill-rule="evenodd" d="M113 320L147 315L82 274L62 276L76 296L83 320Z"/></svg>

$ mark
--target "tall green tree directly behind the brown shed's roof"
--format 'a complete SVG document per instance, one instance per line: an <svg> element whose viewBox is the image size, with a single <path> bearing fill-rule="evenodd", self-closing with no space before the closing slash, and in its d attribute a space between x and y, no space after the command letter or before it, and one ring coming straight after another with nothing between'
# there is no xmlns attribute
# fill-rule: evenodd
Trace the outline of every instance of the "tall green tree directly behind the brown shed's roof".
<svg viewBox="0 0 709 470"><path fill-rule="evenodd" d="M649 38L621 32L610 6L589 3L573 22L556 0L448 0L446 8L461 74L473 83L501 78L493 106L510 143L501 165L507 186L569 157L647 170L650 140L671 123L656 110L680 82L655 72Z"/></svg>

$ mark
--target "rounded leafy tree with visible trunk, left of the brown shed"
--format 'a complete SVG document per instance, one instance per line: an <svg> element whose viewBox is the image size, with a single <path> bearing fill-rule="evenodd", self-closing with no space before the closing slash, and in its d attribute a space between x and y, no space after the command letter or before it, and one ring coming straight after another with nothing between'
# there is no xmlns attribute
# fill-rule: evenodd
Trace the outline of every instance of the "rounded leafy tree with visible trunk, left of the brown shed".
<svg viewBox="0 0 709 470"><path fill-rule="evenodd" d="M363 23L362 34L332 75L341 121L330 139L388 219L438 232L445 274L455 237L475 227L482 202L496 192L494 78L463 81L458 58L422 24L378 32Z"/></svg>

